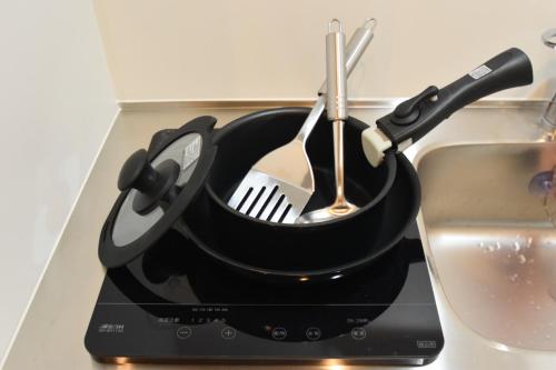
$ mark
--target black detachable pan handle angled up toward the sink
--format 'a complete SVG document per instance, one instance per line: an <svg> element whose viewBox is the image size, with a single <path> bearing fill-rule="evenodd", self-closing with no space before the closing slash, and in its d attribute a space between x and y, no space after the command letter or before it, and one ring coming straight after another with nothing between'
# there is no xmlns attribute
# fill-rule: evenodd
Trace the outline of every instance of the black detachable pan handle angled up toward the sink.
<svg viewBox="0 0 556 370"><path fill-rule="evenodd" d="M508 49L444 89L428 87L380 118L377 127L394 147L411 144L468 103L494 92L529 84L533 68L519 49Z"/></svg>

